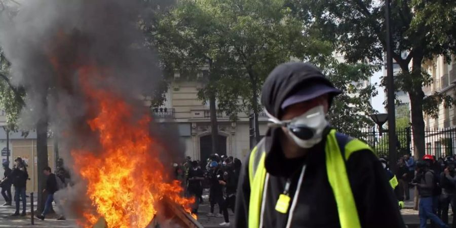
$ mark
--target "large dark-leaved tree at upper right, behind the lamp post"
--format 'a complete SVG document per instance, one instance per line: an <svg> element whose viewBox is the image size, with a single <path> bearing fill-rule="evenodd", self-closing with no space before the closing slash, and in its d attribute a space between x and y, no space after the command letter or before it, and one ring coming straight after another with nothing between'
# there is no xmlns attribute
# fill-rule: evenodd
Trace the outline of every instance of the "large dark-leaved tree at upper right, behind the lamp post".
<svg viewBox="0 0 456 228"><path fill-rule="evenodd" d="M326 31L325 38L334 41L349 62L366 61L380 66L383 62L386 28L384 1L289 2L293 12L312 27ZM398 0L391 5L393 59L401 68L395 84L409 94L415 155L425 154L423 112L436 114L436 106L450 96L426 96L423 86L432 83L422 68L425 60L443 55L450 61L456 53L455 1ZM437 109L438 110L438 109Z"/></svg>

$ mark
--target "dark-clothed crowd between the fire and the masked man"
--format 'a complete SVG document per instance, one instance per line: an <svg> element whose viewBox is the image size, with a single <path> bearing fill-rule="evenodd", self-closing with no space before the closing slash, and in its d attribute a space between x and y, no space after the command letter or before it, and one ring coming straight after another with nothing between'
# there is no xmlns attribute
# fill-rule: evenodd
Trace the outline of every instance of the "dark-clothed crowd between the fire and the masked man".
<svg viewBox="0 0 456 228"><path fill-rule="evenodd" d="M203 200L203 188L209 188L210 213L208 217L223 217L220 226L230 226L229 209L235 211L241 161L237 158L212 154L203 163L186 157L182 165L174 164L176 178L181 180L187 196L195 198L192 212L198 214ZM218 213L214 214L215 205Z"/></svg>

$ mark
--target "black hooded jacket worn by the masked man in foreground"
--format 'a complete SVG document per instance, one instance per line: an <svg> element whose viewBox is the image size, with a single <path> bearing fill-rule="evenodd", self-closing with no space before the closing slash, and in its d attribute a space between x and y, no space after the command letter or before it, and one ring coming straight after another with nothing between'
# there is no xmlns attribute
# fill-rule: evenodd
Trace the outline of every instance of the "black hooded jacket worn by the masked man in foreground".
<svg viewBox="0 0 456 228"><path fill-rule="evenodd" d="M280 117L281 104L291 93L312 82L331 85L314 66L305 63L286 63L271 72L265 81L261 101L271 115ZM327 135L329 128L324 135ZM325 137L310 148L306 156L287 159L281 145L281 128L270 128L265 136L265 168L269 173L266 183L263 227L286 227L290 218L291 202L299 193L291 216L290 227L340 227L337 204L328 181L325 162ZM299 189L299 173L306 165ZM249 156L245 159L239 177L236 218L234 227L248 227L249 220ZM398 202L382 165L370 150L355 151L346 162L352 193L362 227L405 227ZM290 178L291 201L286 214L275 210L286 180ZM261 227L261 228L263 228Z"/></svg>

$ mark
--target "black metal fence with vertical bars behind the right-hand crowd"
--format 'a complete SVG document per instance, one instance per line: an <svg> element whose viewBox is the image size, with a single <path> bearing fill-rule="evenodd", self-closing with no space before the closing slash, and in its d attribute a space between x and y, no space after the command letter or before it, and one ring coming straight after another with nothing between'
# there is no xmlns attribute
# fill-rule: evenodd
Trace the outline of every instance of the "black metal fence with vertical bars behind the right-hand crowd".
<svg viewBox="0 0 456 228"><path fill-rule="evenodd" d="M413 155L413 141L411 128L396 130L396 149L398 156L406 154ZM382 133L376 129L365 129L362 131L361 140L374 148L376 154L388 156L388 130ZM456 155L456 127L445 129L425 130L426 154L435 155L437 158Z"/></svg>

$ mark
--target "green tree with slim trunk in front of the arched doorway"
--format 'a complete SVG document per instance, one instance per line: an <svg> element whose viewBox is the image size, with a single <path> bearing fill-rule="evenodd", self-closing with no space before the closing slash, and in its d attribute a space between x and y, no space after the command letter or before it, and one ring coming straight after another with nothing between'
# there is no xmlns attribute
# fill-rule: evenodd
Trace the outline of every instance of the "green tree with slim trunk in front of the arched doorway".
<svg viewBox="0 0 456 228"><path fill-rule="evenodd" d="M219 44L218 21L194 1L179 3L163 12L155 27L149 30L150 42L159 52L168 83L179 75L183 80L204 83L200 98L209 98L212 151L218 148L215 82L223 67L223 44ZM182 76L182 77L180 77ZM205 99L203 99L205 100Z"/></svg>

